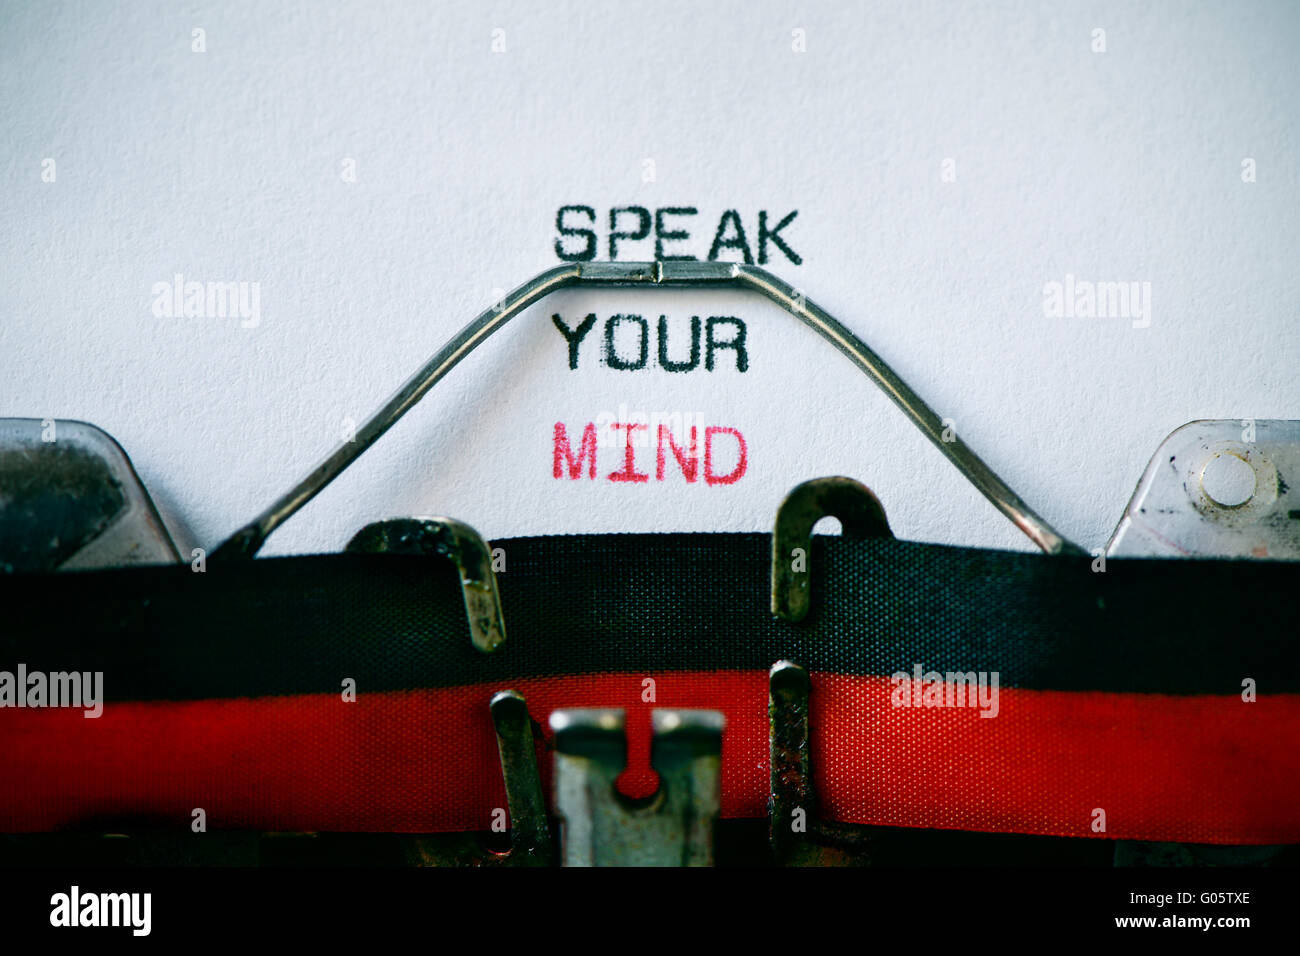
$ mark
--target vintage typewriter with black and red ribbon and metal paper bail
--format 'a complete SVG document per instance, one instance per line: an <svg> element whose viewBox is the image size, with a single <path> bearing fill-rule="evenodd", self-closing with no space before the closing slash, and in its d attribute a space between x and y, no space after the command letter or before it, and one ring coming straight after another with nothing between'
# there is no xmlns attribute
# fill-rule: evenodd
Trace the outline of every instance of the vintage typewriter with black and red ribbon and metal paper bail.
<svg viewBox="0 0 1300 956"><path fill-rule="evenodd" d="M896 540L861 481L792 475L771 535L488 542L473 515L406 516L339 554L256 557L493 332L575 286L766 297L1043 554ZM178 553L103 431L6 419L0 857L1294 864L1297 483L1300 423L1184 424L1088 553L845 325L729 263L537 276L211 554ZM841 536L812 535L827 515Z"/></svg>

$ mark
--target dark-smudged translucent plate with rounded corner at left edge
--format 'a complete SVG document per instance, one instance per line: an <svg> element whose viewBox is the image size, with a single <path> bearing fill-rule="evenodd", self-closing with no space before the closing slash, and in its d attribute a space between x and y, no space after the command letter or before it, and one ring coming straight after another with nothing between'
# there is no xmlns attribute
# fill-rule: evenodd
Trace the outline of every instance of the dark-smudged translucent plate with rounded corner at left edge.
<svg viewBox="0 0 1300 956"><path fill-rule="evenodd" d="M0 419L0 574L181 561L112 436L64 419Z"/></svg>

